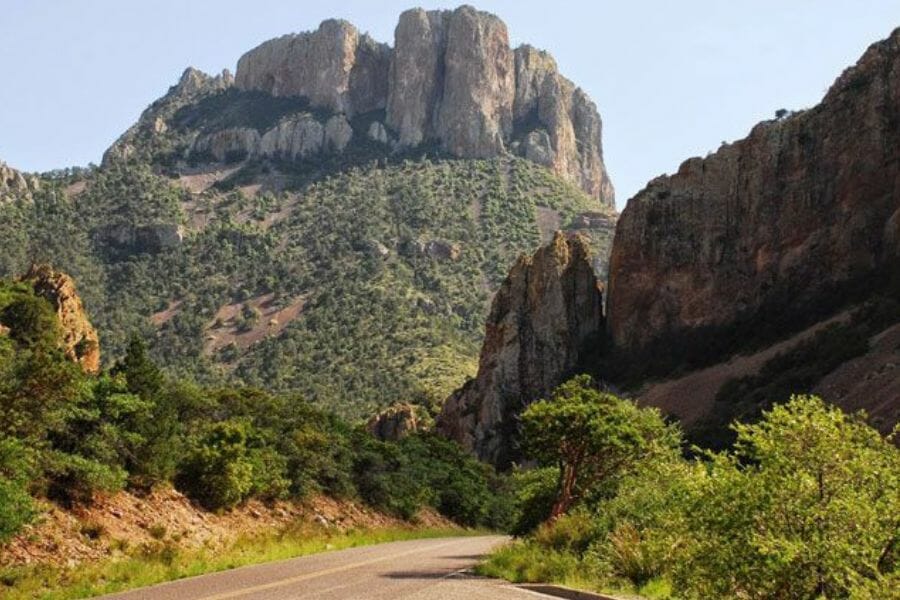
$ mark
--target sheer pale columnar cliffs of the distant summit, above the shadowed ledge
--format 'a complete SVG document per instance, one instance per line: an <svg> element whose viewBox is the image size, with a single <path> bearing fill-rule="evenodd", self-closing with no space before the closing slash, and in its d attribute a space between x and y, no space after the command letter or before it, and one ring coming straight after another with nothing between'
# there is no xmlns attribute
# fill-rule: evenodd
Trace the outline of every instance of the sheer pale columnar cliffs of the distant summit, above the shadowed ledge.
<svg viewBox="0 0 900 600"><path fill-rule="evenodd" d="M325 21L314 32L245 54L235 86L304 97L345 122L384 111L384 122L369 119L365 131L352 134L394 149L436 143L459 158L511 151L614 206L593 102L549 55L528 46L512 50L506 25L469 6L404 12L393 49L345 21ZM246 132L228 135L267 154Z"/></svg>

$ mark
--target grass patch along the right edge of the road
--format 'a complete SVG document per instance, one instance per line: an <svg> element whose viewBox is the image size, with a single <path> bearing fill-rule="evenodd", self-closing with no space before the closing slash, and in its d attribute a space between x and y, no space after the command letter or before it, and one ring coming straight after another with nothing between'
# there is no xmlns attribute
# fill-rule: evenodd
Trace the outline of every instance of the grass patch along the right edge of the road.
<svg viewBox="0 0 900 600"><path fill-rule="evenodd" d="M671 585L652 579L641 586L607 581L592 567L589 557L579 558L529 541L515 541L495 550L476 567L485 577L513 583L553 583L578 590L613 594L634 600L673 600Z"/></svg>

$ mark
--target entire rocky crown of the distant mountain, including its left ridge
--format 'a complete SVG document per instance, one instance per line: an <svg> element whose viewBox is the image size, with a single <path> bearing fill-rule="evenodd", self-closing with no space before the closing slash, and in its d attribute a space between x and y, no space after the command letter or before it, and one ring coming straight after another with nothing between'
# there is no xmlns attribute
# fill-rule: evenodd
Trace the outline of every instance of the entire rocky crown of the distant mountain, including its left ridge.
<svg viewBox="0 0 900 600"><path fill-rule="evenodd" d="M613 208L601 134L596 106L549 54L510 48L500 19L463 6L403 13L393 48L328 20L249 51L234 77L189 69L107 159L151 138L175 162L353 160L361 145L366 157L512 153Z"/></svg>

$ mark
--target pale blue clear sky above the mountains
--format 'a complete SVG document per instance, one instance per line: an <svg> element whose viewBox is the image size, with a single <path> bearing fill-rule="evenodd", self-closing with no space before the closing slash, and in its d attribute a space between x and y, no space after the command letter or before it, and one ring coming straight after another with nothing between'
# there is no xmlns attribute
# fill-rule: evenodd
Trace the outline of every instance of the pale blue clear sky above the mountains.
<svg viewBox="0 0 900 600"><path fill-rule="evenodd" d="M780 108L808 108L873 42L898 0L482 0L515 46L556 58L597 103L617 205ZM393 42L426 0L0 0L0 160L99 162L187 66L234 71L260 42L340 17Z"/></svg>

